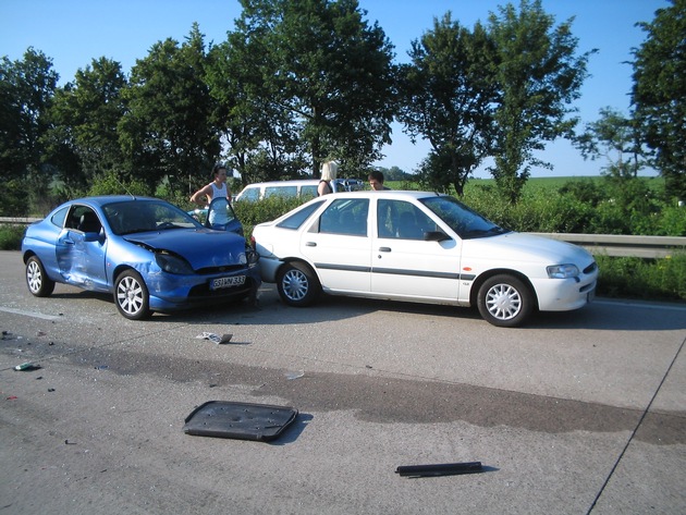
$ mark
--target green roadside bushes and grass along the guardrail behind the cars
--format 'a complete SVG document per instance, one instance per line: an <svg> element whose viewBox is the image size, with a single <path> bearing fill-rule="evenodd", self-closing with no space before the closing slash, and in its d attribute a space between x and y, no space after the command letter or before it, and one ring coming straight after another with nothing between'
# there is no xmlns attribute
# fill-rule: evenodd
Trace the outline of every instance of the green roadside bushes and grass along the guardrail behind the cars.
<svg viewBox="0 0 686 515"><path fill-rule="evenodd" d="M644 234L686 236L686 207L663 200L663 181L636 179L632 195L614 191L608 177L532 179L516 205L500 201L490 180L473 181L462 200L494 222L520 232L586 234ZM409 181L390 181L393 189L419 189ZM100 184L90 194L122 193L121 185ZM163 189L157 196L183 209L194 206ZM637 198L639 197L639 198ZM259 203L235 203L234 209L246 234L257 223L297 207L306 199L271 197ZM0 249L20 248L23 226L0 226ZM640 259L596 255L600 266L598 295L647 301L686 302L686 249L669 258Z"/></svg>

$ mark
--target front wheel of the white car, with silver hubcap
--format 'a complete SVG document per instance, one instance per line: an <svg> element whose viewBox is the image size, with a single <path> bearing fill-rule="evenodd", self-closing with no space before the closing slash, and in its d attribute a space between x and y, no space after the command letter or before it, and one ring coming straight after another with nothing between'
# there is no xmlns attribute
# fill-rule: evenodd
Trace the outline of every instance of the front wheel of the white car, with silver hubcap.
<svg viewBox="0 0 686 515"><path fill-rule="evenodd" d="M531 314L534 295L514 275L493 275L481 284L477 306L487 322L500 328L515 328L522 326Z"/></svg>

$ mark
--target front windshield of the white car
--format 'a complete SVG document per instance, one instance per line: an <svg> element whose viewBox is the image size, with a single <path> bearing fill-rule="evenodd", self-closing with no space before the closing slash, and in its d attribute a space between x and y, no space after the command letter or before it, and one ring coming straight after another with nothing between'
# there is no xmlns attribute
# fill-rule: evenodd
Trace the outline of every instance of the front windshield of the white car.
<svg viewBox="0 0 686 515"><path fill-rule="evenodd" d="M463 240L493 236L510 232L462 204L455 197L437 196L419 199Z"/></svg>

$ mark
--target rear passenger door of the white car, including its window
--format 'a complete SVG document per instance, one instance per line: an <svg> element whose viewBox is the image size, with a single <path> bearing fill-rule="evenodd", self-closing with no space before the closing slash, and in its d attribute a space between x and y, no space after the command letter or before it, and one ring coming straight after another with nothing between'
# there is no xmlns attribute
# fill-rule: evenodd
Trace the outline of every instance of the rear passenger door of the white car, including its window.
<svg viewBox="0 0 686 515"><path fill-rule="evenodd" d="M335 199L303 233L301 254L314 263L324 290L369 292L368 214L368 198Z"/></svg>

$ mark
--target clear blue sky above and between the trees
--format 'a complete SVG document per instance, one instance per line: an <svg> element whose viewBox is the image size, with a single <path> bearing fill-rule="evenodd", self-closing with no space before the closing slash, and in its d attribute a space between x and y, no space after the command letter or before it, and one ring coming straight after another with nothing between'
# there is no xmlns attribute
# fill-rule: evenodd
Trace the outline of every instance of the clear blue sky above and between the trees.
<svg viewBox="0 0 686 515"><path fill-rule="evenodd" d="M411 42L430 30L436 17L451 11L452 19L473 28L487 23L505 0L359 0L369 24L377 22L395 47L396 62L407 62ZM519 0L511 0L518 5ZM572 33L578 38L577 54L598 49L590 57L590 77L581 87L578 108L581 127L598 119L599 110L611 107L628 113L632 88L632 49L645 40L638 22L651 22L667 0L542 0L543 10L555 25L574 17ZM0 0L0 57L23 59L33 47L52 60L60 85L73 81L79 69L93 59L118 61L128 74L157 41L173 38L183 42L194 22L206 42L219 44L233 30L241 15L238 0ZM376 164L412 172L426 158L429 145L413 145L402 125L392 125L393 143L382 149ZM586 161L564 140L548 144L537 157L552 163L553 170L534 169L531 176L598 175L602 161ZM650 172L644 173L649 175ZM485 170L475 176L488 177Z"/></svg>

